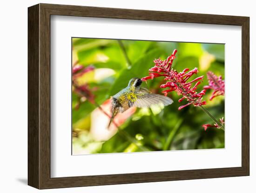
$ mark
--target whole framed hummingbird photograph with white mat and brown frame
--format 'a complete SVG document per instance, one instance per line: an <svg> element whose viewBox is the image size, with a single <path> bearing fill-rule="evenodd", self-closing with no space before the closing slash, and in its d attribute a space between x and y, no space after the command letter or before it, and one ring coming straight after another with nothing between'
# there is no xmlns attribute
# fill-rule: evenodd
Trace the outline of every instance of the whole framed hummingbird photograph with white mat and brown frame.
<svg viewBox="0 0 256 193"><path fill-rule="evenodd" d="M249 17L28 8L28 185L249 175Z"/></svg>

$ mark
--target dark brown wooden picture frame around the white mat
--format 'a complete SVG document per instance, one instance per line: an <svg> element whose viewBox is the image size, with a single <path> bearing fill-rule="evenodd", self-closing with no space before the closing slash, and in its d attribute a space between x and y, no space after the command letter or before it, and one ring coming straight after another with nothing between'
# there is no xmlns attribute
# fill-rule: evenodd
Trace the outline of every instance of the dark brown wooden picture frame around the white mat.
<svg viewBox="0 0 256 193"><path fill-rule="evenodd" d="M242 167L51 178L50 16L242 26ZM249 17L38 4L28 8L28 185L39 189L249 175Z"/></svg>

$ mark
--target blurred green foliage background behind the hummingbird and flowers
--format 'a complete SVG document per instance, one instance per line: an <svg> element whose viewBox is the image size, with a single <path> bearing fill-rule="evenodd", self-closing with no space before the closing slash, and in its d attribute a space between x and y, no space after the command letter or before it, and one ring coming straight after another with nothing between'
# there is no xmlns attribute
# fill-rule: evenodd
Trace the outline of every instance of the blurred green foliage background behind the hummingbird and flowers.
<svg viewBox="0 0 256 193"><path fill-rule="evenodd" d="M88 82L96 96L96 102L102 104L110 96L125 88L132 77L145 77L148 69L154 66L155 58L166 59L177 49L173 68L182 71L198 68L196 76L204 75L204 82L198 86L198 91L208 84L206 73L213 71L224 79L224 45L201 43L178 43L157 41L121 40L125 46L131 66L128 67L124 52L117 40L111 39L73 39L73 63L94 65L96 69L112 69L111 76L92 79ZM196 77L193 76L194 78ZM191 77L191 78L193 78ZM159 87L162 77L143 82L142 86L156 93L161 93ZM207 101L205 108L217 119L224 116L224 96L218 96L209 101L210 90L203 97ZM168 94L174 103L157 109L137 108L135 114L121 125L124 135L134 139L134 142L117 132L107 141L96 141L90 134L91 112L96 108L88 100L80 103L76 93L72 93L73 109L73 153L116 153L134 151L159 151L181 149L224 148L224 132L221 129L209 128L206 131L202 124L213 124L212 120L200 108L188 106L182 110L178 107L186 102L178 102L181 96L175 92ZM99 120L101 121L101 120Z"/></svg>

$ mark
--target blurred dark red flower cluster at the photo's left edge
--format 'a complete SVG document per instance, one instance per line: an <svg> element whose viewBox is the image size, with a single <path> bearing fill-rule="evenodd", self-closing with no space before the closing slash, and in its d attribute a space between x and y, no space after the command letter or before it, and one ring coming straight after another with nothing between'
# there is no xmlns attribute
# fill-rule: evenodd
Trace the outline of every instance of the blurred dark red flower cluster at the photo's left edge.
<svg viewBox="0 0 256 193"><path fill-rule="evenodd" d="M85 97L91 103L94 103L95 96L92 93L92 90L90 90L89 85L88 84L78 85L76 83L76 79L78 77L81 77L85 73L88 73L89 71L93 71L93 70L94 70L94 66L84 67L80 64L76 64L72 68L72 84L74 86L74 92L81 98Z"/></svg>

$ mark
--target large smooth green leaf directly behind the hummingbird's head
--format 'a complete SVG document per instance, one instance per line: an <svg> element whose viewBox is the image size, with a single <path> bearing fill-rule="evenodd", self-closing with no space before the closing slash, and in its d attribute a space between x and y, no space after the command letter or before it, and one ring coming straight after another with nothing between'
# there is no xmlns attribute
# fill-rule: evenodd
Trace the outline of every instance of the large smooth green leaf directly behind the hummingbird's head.
<svg viewBox="0 0 256 193"><path fill-rule="evenodd" d="M145 77L148 76L148 70L154 66L153 60L159 58L162 50L155 49L149 51L142 58L140 58L130 69L124 69L121 71L115 83L112 85L109 95L113 96L123 88L127 87L128 82L133 77Z"/></svg>

